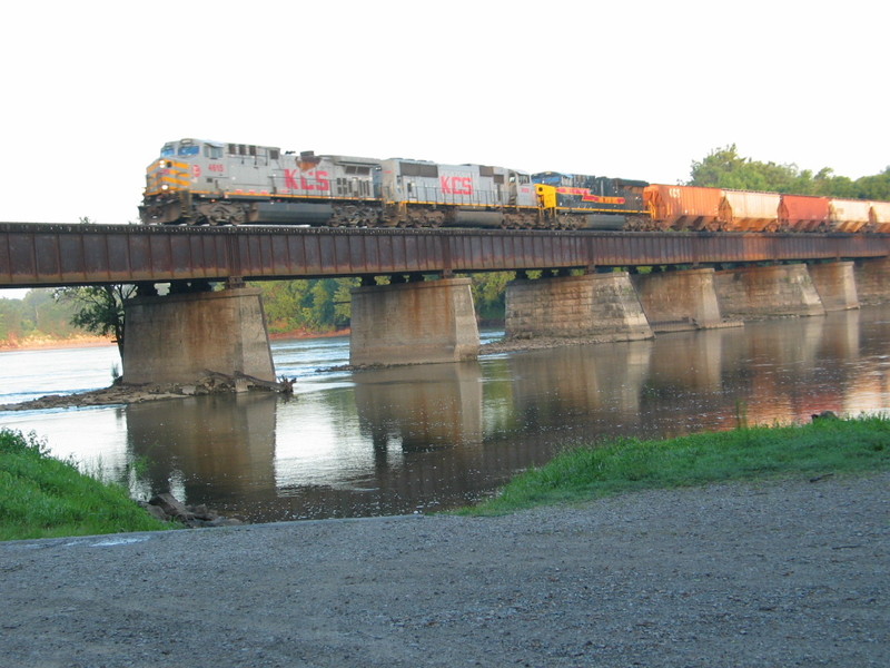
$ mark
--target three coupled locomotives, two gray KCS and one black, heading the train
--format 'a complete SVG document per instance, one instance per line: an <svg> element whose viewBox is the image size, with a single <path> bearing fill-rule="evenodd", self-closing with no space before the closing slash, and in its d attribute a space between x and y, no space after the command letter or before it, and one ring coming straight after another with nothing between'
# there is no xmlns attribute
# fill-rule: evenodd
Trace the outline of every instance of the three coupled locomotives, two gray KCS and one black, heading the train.
<svg viewBox="0 0 890 668"><path fill-rule="evenodd" d="M139 215L167 225L622 228L645 216L645 185L180 139L149 165Z"/></svg>

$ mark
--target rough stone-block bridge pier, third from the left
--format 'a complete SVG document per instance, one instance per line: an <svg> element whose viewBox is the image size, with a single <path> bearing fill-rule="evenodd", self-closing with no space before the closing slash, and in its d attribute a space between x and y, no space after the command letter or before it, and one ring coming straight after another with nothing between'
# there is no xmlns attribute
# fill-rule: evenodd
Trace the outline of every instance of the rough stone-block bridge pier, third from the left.
<svg viewBox="0 0 890 668"><path fill-rule="evenodd" d="M653 336L624 272L513 281L506 292L505 328L513 338L634 341Z"/></svg>

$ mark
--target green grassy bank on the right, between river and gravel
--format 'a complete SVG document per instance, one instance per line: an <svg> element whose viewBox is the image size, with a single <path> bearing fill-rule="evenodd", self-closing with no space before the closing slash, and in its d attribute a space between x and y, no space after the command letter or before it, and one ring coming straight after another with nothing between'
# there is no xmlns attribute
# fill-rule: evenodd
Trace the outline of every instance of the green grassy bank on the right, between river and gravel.
<svg viewBox="0 0 890 668"><path fill-rule="evenodd" d="M890 469L890 419L817 420L669 441L620 440L567 451L465 514L498 514L621 492Z"/></svg>

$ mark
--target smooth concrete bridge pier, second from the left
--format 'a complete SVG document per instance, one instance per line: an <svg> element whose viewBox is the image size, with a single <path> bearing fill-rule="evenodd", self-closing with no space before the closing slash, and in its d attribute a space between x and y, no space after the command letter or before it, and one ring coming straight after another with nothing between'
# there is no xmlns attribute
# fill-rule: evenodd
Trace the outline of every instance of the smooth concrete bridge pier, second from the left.
<svg viewBox="0 0 890 668"><path fill-rule="evenodd" d="M479 332L469 284L469 278L446 278L354 288L349 363L477 358Z"/></svg>

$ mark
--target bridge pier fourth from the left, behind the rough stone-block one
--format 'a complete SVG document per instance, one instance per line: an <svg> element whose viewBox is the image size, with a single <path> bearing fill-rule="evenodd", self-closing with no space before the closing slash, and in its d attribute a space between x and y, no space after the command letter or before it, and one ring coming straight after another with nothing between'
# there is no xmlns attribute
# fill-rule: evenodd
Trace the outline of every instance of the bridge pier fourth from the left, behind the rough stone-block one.
<svg viewBox="0 0 890 668"><path fill-rule="evenodd" d="M631 281L654 332L723 326L711 268L639 274Z"/></svg>

